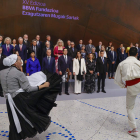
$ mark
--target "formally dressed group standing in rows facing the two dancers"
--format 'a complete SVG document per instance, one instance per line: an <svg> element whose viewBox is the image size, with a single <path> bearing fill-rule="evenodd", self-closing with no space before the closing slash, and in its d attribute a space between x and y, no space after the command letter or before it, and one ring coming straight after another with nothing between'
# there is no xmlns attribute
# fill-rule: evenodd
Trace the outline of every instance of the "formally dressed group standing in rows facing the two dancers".
<svg viewBox="0 0 140 140"><path fill-rule="evenodd" d="M81 82L85 79L84 90L87 93L95 91L95 77L98 77L98 90L100 92L100 83L102 81L102 92L106 93L105 78L114 79L116 66L129 55L129 49L136 47L138 54L140 53L139 44L134 46L132 43L126 48L123 44L114 51L112 42L105 48L102 42L95 47L92 39L88 41L88 45L83 44L83 40L79 41L76 46L74 42L68 40L67 45L61 39L58 39L56 45L53 45L51 36L46 36L46 41L40 41L40 36L36 35L32 40L32 45L28 40L28 35L11 40L6 37L3 42L3 36L0 35L0 70L4 69L2 59L11 54L17 54L22 59L21 71L27 76L39 71L49 71L57 73L61 77L66 76L66 70L69 69L69 75L75 79L74 93L81 93ZM138 59L139 59L138 55ZM69 80L65 81L65 94L68 92ZM62 86L62 85L61 85ZM62 89L62 88L61 88ZM61 90L62 91L62 90ZM62 92L59 93L60 95Z"/></svg>

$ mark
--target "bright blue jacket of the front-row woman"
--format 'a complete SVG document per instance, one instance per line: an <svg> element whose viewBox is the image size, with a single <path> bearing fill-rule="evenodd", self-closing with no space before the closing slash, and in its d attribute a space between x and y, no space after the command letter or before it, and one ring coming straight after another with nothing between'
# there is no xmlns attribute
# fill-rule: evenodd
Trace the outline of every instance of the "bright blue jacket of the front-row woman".
<svg viewBox="0 0 140 140"><path fill-rule="evenodd" d="M32 60L32 58L29 58L27 60L26 64L26 73L29 73L29 75L41 71L39 60L35 57L35 61Z"/></svg>

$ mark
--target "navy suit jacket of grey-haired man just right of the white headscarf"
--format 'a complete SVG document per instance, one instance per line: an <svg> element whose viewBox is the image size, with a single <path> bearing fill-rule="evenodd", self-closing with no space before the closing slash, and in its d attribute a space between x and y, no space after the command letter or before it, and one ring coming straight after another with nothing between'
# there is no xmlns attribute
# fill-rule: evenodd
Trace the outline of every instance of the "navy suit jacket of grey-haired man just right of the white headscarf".
<svg viewBox="0 0 140 140"><path fill-rule="evenodd" d="M22 51L20 51L19 45L16 45L15 51L18 51L19 56L21 57L21 59L23 60L23 62L25 60L27 60L27 47L26 47L26 45L22 45Z"/></svg>

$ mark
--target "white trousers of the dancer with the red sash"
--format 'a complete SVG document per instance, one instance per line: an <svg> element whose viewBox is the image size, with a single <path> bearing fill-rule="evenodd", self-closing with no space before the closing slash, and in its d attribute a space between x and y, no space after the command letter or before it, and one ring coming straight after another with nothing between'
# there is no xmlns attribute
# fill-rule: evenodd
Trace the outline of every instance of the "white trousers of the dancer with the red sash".
<svg viewBox="0 0 140 140"><path fill-rule="evenodd" d="M136 119L134 115L134 106L137 94L140 92L140 83L134 86L127 87L127 94L126 94L126 109L128 114L128 123L131 128L137 128L136 126Z"/></svg>

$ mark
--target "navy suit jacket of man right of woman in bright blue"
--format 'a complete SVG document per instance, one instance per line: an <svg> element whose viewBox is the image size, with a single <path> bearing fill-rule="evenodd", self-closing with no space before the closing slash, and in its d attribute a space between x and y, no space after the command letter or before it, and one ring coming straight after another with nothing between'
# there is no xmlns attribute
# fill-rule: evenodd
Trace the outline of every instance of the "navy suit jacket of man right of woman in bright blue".
<svg viewBox="0 0 140 140"><path fill-rule="evenodd" d="M55 73L55 58L51 57L50 58L50 64L47 59L47 56L43 58L42 61L42 70L48 70L50 73Z"/></svg>

